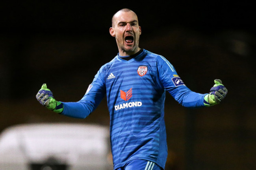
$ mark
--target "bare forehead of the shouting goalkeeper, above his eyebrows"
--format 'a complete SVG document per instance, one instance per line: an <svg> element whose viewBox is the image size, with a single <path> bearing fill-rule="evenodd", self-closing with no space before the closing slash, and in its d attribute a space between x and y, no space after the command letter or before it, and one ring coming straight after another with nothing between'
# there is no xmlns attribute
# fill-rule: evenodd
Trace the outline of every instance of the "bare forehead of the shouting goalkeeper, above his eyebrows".
<svg viewBox="0 0 256 170"><path fill-rule="evenodd" d="M132 11L128 11L128 12L119 11L114 16L115 25L119 22L131 22L134 20L138 21L138 18L137 18L137 15Z"/></svg>

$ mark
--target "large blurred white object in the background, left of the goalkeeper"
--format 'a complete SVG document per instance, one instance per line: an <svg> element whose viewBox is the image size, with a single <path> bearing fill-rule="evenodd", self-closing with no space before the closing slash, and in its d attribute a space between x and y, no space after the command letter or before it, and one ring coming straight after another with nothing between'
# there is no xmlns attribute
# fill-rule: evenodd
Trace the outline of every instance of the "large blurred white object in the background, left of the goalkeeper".
<svg viewBox="0 0 256 170"><path fill-rule="evenodd" d="M22 124L0 135L0 170L113 170L109 157L106 126Z"/></svg>

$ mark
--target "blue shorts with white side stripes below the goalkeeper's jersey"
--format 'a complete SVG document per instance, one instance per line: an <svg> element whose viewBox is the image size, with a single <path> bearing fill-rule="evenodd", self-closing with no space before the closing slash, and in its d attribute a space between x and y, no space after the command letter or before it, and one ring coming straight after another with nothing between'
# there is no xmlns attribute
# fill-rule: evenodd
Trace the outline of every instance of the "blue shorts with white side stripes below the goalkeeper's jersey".
<svg viewBox="0 0 256 170"><path fill-rule="evenodd" d="M156 163L143 159L128 161L123 167L116 170L163 170Z"/></svg>

